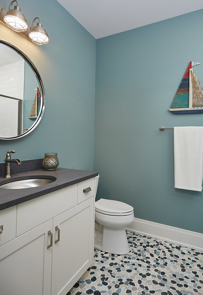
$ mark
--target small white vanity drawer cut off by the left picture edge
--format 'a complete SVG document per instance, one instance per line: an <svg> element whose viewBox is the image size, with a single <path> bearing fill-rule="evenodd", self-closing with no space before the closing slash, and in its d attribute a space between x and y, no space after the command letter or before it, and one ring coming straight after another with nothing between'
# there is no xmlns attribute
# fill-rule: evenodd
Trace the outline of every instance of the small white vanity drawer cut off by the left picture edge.
<svg viewBox="0 0 203 295"><path fill-rule="evenodd" d="M15 238L16 209L17 206L13 206L0 211L0 226L3 226L3 230L0 229L0 246Z"/></svg>

